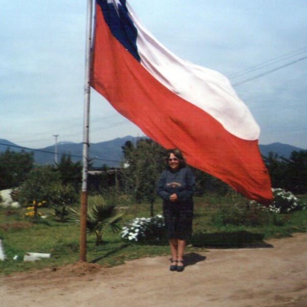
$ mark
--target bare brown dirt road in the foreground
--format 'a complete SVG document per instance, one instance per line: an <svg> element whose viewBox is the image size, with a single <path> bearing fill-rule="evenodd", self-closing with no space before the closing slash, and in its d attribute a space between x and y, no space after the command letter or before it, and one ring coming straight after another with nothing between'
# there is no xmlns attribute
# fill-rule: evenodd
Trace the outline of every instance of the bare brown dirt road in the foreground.
<svg viewBox="0 0 307 307"><path fill-rule="evenodd" d="M306 307L307 234L266 243L188 253L182 273L168 271L168 257L149 257L1 277L0 306Z"/></svg>

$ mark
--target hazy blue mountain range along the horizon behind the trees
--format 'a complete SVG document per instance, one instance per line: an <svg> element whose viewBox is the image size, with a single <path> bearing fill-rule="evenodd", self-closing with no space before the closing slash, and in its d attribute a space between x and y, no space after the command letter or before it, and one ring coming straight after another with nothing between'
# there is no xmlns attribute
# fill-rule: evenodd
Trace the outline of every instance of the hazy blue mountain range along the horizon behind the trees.
<svg viewBox="0 0 307 307"><path fill-rule="evenodd" d="M111 141L91 143L90 144L90 159L94 167L101 167L107 164L109 167L118 167L122 161L122 146L126 141L136 142L138 138L126 136L124 138L117 138ZM0 139L0 152L5 151L8 147L12 151L19 152L23 147L20 147L10 141ZM73 142L59 142L57 144L57 161L60 161L63 153L72 156L73 162L82 161L82 143ZM26 148L26 151L31 149ZM269 152L276 153L279 157L289 158L292 151L304 150L295 146L282 143L272 143L269 145L259 145L261 155L268 156ZM55 146L48 146L41 149L33 149L34 160L38 164L54 164L55 160Z"/></svg>

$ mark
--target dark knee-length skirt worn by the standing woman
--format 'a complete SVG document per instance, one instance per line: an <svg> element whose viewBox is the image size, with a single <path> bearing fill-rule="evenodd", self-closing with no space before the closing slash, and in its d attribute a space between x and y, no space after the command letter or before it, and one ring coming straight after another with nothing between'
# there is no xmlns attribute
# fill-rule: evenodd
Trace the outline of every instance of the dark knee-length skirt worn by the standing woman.
<svg viewBox="0 0 307 307"><path fill-rule="evenodd" d="M186 240L191 236L193 204L166 203L163 216L168 239Z"/></svg>

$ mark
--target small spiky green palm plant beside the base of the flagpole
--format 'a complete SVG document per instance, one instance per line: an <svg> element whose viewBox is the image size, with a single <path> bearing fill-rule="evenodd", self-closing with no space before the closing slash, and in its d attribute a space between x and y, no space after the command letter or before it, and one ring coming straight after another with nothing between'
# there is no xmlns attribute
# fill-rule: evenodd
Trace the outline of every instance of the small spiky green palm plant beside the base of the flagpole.
<svg viewBox="0 0 307 307"><path fill-rule="evenodd" d="M71 208L70 222L80 223L80 212ZM102 235L110 228L113 232L121 230L119 222L123 213L119 213L114 202L95 205L87 211L86 228L88 234L96 235L96 245L102 245Z"/></svg>

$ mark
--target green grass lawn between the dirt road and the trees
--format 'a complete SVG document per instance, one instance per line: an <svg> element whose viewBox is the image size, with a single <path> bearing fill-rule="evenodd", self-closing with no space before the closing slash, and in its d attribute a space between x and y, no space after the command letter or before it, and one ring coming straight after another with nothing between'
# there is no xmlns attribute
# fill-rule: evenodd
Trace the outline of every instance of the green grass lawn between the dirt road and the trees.
<svg viewBox="0 0 307 307"><path fill-rule="evenodd" d="M306 195L300 199L307 202ZM99 203L99 196L89 197L89 207ZM199 252L206 247L240 248L251 243L265 244L271 237L291 236L293 232L307 230L307 210L287 215L268 215L259 224L232 225L219 220L225 212L245 208L247 200L239 195L222 197L206 195L195 197L193 235L188 242L187 252ZM148 217L149 204L134 205L127 198L119 200L119 207L125 212L123 224L135 217ZM224 211L225 212L224 212ZM2 239L7 259L0 261L0 274L42 269L71 264L79 260L79 225L60 223L51 215L49 208L39 208L46 220L32 224L24 217L26 209L0 209L0 239ZM224 213L223 213L224 212ZM155 203L155 214L161 214L161 202ZM274 222L274 218L277 222ZM253 223L252 223L253 224ZM107 267L117 266L129 259L146 256L168 255L167 242L141 245L124 242L119 234L111 232L103 236L104 244L95 245L95 236L87 236L87 261ZM262 246L260 244L260 246ZM26 252L50 253L51 257L36 262L24 262ZM17 260L13 257L17 255Z"/></svg>

